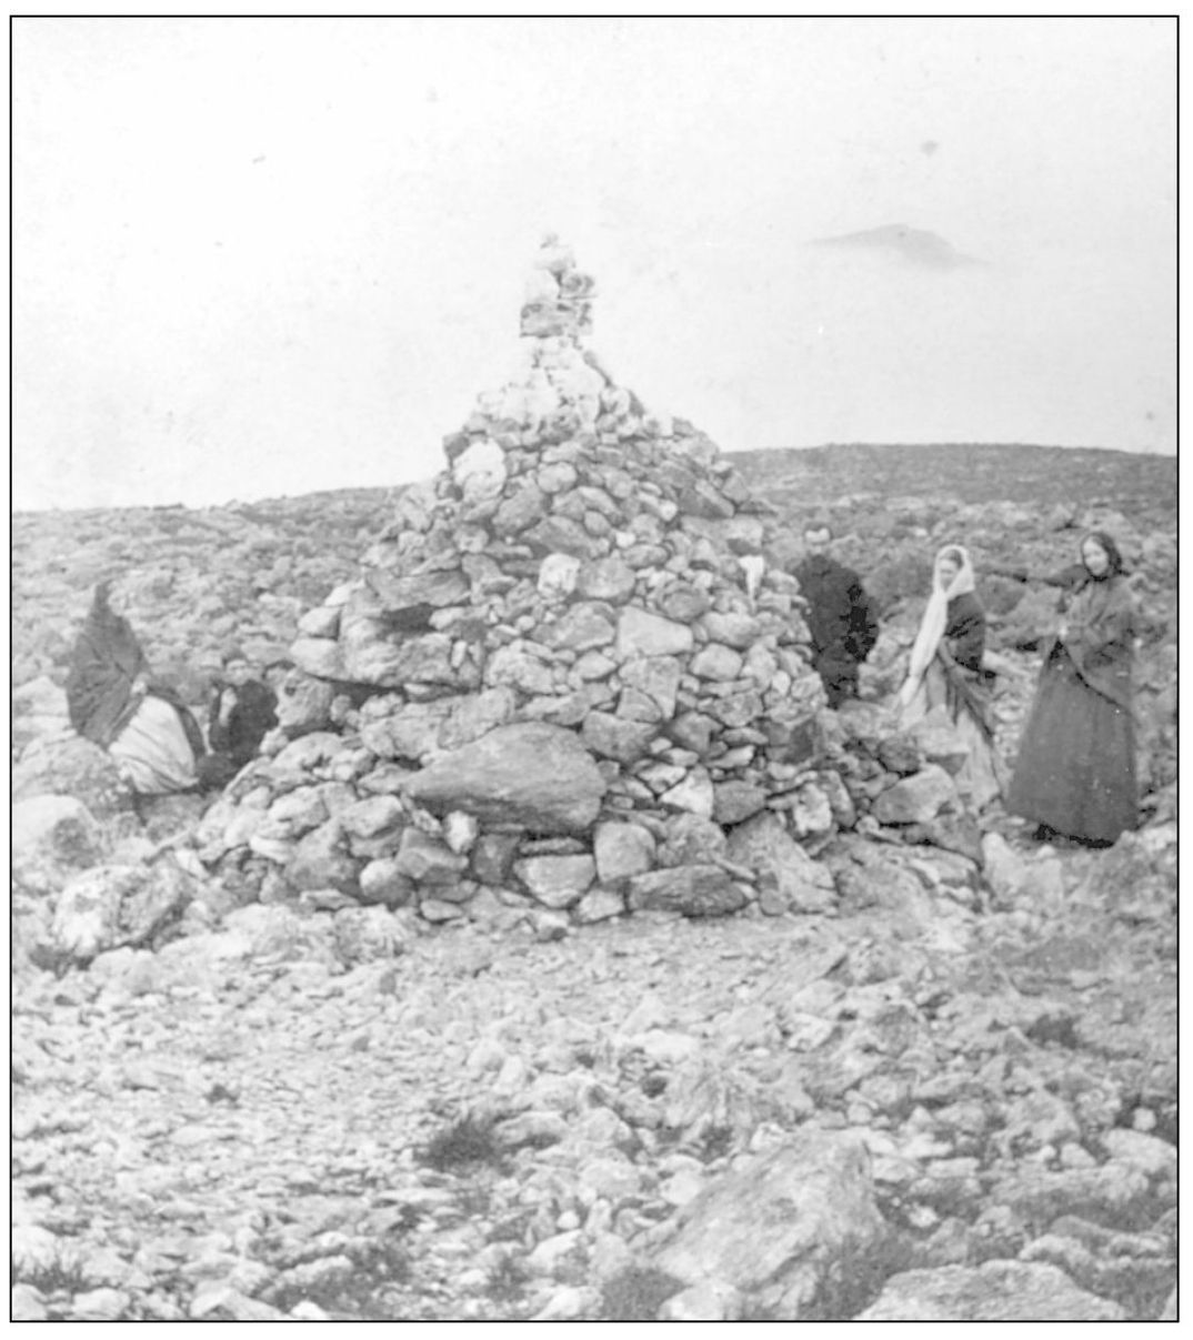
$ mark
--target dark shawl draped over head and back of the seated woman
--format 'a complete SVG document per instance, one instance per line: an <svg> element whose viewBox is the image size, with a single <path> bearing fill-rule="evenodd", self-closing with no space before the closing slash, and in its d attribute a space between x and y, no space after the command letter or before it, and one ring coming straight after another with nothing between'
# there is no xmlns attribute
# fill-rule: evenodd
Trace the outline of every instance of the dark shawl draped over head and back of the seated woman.
<svg viewBox="0 0 1193 1340"><path fill-rule="evenodd" d="M71 725L105 749L135 713L133 681L147 670L137 635L107 603L107 583L95 588L66 681Z"/></svg>

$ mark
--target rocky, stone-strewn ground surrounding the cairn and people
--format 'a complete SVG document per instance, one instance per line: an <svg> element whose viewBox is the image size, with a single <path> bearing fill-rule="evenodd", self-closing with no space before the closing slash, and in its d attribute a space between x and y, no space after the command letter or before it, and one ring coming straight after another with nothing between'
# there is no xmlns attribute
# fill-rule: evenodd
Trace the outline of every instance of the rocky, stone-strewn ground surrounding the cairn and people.
<svg viewBox="0 0 1193 1340"><path fill-rule="evenodd" d="M479 903L437 926L410 907L229 906L192 838L204 801L138 815L75 773L79 812L43 772L28 797L54 801L55 836L17 852L19 906L44 911L102 859L181 915L86 965L21 955L17 935L13 1316L1173 1306L1174 462L890 449L878 477L865 450L735 460L777 508L775 549L811 511L850 532L885 608L870 699L898 681L932 553L970 547L1008 757L1051 608L992 570L1052 571L1087 524L1125 540L1146 825L1087 852L999 815L977 850L836 824L814 844L834 890L816 910L576 927ZM150 659L200 704L221 645L284 650L391 507L346 492L15 517L19 769L60 744L72 630L114 563L135 574Z"/></svg>

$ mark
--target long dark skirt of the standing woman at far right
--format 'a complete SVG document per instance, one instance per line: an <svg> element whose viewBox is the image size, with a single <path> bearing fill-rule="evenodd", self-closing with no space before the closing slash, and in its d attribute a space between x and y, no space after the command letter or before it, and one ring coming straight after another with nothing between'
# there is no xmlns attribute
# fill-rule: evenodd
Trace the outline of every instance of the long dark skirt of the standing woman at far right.
<svg viewBox="0 0 1193 1340"><path fill-rule="evenodd" d="M1138 824L1131 713L1078 674L1063 647L1040 671L1007 795L1012 815L1111 843Z"/></svg>

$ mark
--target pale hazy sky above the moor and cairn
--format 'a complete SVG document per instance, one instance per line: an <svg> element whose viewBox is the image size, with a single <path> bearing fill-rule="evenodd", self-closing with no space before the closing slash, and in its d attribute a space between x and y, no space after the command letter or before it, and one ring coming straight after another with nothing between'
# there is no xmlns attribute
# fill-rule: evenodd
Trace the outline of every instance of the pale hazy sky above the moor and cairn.
<svg viewBox="0 0 1193 1340"><path fill-rule="evenodd" d="M429 478L544 233L724 450L1176 452L1173 19L16 19L12 505ZM901 232L895 225L902 225Z"/></svg>

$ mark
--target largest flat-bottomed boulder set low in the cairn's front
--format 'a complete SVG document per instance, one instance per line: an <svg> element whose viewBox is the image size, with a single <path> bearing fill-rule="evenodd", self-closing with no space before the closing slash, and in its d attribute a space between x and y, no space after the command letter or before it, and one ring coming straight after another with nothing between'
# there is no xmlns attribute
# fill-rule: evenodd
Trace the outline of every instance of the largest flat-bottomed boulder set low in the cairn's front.
<svg viewBox="0 0 1193 1340"><path fill-rule="evenodd" d="M576 734L540 721L499 726L413 773L402 788L433 813L462 809L528 832L586 832L605 779Z"/></svg>

